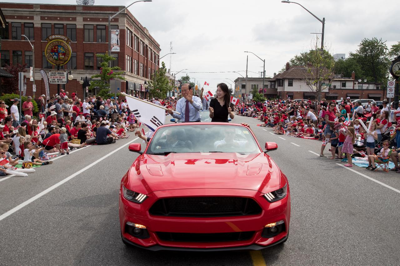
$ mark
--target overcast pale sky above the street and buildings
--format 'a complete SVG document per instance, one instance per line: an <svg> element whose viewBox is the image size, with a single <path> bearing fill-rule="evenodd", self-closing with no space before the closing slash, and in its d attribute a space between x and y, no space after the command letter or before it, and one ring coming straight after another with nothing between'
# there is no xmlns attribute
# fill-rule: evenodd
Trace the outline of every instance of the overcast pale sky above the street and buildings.
<svg viewBox="0 0 400 266"><path fill-rule="evenodd" d="M50 0L17 0L4 2L54 3ZM363 38L382 38L388 48L400 41L396 0L297 0L322 19L325 17L325 46L331 54L354 52ZM76 4L64 0L64 4ZM110 1L95 0L95 5ZM132 0L113 0L126 6ZM153 0L138 2L130 12L145 26L161 46L163 56L173 51L171 71L187 68L196 83L234 80L240 75L227 73L194 73L240 71L245 76L248 55L248 77L259 77L265 58L266 76L278 73L296 54L311 49L312 39L321 32L322 23L297 4L280 0ZM320 34L319 34L320 36ZM170 56L162 59L170 68ZM250 72L252 71L252 72ZM255 72L255 73L254 73ZM182 71L177 75L186 75ZM229 79L227 79L229 78ZM194 79L192 80L194 81ZM232 83L232 87L234 84Z"/></svg>

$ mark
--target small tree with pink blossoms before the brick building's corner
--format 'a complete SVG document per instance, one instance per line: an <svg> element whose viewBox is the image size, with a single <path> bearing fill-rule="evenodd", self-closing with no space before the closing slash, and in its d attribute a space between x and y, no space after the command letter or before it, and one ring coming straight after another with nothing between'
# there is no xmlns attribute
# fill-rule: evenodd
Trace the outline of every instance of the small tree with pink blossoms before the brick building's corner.
<svg viewBox="0 0 400 266"><path fill-rule="evenodd" d="M105 92L110 91L110 79L120 79L125 80L120 74L124 72L116 71L121 70L121 67L110 67L109 62L112 60L116 60L113 56L108 56L108 54L96 54L96 57L101 58L102 62L100 63L100 74L92 75L92 82L90 83L89 89L100 88L100 92L106 94ZM100 78L100 79L98 79ZM99 94L99 93L98 93Z"/></svg>

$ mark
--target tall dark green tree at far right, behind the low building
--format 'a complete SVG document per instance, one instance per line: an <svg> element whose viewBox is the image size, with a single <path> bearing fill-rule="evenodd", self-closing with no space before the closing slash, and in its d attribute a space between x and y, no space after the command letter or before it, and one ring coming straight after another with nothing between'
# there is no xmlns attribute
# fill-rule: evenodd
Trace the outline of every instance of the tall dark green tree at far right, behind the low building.
<svg viewBox="0 0 400 266"><path fill-rule="evenodd" d="M382 82L388 79L390 61L388 47L382 38L364 38L358 45L356 52L350 52L349 58L353 58L364 70L364 78L367 81Z"/></svg>

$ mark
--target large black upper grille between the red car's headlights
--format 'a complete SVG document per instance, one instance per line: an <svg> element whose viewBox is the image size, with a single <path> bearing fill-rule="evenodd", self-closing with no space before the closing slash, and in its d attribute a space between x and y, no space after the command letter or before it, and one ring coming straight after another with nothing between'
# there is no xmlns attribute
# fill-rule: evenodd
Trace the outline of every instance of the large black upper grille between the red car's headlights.
<svg viewBox="0 0 400 266"><path fill-rule="evenodd" d="M159 199L149 210L152 215L179 217L223 217L261 213L254 199L243 197L182 197Z"/></svg>

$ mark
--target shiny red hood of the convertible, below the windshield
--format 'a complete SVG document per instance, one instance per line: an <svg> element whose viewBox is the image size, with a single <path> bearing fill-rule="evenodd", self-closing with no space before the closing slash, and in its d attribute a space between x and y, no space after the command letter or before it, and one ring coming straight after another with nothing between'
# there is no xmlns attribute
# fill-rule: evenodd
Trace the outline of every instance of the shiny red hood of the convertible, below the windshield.
<svg viewBox="0 0 400 266"><path fill-rule="evenodd" d="M135 165L136 163L136 165ZM143 154L129 173L129 186L145 193L172 189L279 189L280 170L264 154L170 153Z"/></svg>

